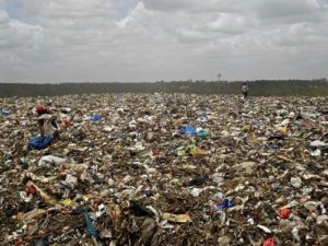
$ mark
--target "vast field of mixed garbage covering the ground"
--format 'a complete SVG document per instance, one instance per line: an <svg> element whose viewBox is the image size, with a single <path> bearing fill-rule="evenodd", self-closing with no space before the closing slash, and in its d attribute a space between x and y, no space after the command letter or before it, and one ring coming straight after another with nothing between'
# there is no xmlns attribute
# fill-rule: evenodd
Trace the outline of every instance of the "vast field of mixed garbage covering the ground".
<svg viewBox="0 0 328 246"><path fill-rule="evenodd" d="M35 139L38 105L56 113L57 139ZM328 245L327 97L101 94L0 108L0 245Z"/></svg>

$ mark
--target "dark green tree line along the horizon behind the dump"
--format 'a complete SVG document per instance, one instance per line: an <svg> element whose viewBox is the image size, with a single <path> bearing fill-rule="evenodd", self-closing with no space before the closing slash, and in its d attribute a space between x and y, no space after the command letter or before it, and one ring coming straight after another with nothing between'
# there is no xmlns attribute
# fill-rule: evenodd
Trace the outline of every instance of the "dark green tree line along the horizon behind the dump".
<svg viewBox="0 0 328 246"><path fill-rule="evenodd" d="M320 80L258 80L258 81L172 81L140 83L0 83L0 97L55 96L90 93L196 93L241 94L242 84L249 86L250 96L327 96L328 81Z"/></svg>

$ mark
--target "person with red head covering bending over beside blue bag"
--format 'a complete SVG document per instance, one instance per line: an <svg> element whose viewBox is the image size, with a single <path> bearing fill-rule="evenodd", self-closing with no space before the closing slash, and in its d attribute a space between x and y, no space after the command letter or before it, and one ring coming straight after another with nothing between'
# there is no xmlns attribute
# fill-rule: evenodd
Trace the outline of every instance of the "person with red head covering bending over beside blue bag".
<svg viewBox="0 0 328 246"><path fill-rule="evenodd" d="M40 136L52 136L54 138L58 138L57 115L54 110L45 106L37 106L35 112L37 114Z"/></svg>

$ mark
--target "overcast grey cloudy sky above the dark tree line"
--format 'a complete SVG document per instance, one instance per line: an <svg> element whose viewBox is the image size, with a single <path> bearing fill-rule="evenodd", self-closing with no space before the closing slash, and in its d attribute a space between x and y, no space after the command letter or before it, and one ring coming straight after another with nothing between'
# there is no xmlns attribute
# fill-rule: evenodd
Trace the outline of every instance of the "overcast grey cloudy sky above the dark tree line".
<svg viewBox="0 0 328 246"><path fill-rule="evenodd" d="M0 81L328 78L328 0L0 0Z"/></svg>

